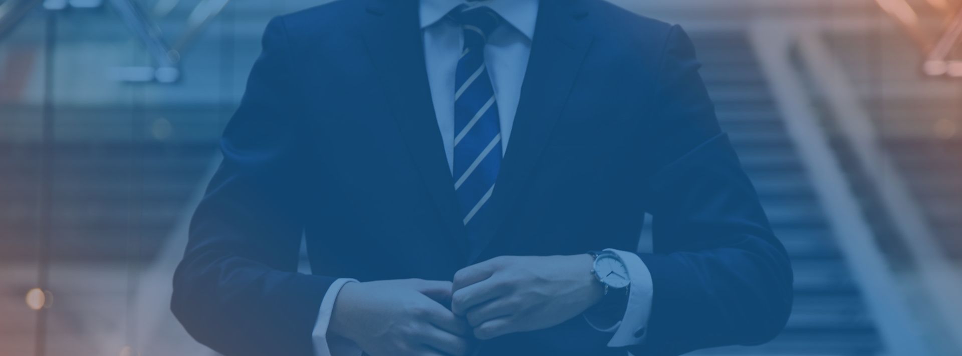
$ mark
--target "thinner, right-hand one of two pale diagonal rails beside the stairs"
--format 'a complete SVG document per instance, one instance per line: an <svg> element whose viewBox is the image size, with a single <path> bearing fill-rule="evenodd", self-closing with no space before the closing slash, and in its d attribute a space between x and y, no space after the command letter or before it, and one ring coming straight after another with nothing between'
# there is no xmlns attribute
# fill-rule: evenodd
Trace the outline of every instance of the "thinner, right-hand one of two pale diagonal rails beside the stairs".
<svg viewBox="0 0 962 356"><path fill-rule="evenodd" d="M938 248L935 233L924 219L922 205L910 192L903 174L879 142L880 134L875 130L868 108L864 107L856 89L846 73L832 57L823 39L818 34L801 36L799 55L803 65L816 68L811 71L815 90L823 93L825 107L830 117L838 118L839 134L850 142L852 152L860 163L860 169L872 177L874 191L879 192L879 207L885 211L895 226L897 235L904 241L915 268L914 274L919 283L915 293L931 304L939 315L939 332L948 335L948 344L941 345L952 350L962 349L962 310L958 300L962 300L962 285L957 281L960 276L948 257ZM875 273L880 273L875 271ZM877 291L870 293L872 297ZM904 325L899 325L903 328ZM931 332L932 330L927 330ZM919 354L900 353L893 354Z"/></svg>

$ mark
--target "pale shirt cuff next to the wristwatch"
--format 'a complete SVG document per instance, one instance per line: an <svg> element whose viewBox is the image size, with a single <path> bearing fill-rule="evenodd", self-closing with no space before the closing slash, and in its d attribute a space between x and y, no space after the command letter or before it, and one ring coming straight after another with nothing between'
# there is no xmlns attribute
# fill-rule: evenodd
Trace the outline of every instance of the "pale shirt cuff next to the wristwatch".
<svg viewBox="0 0 962 356"><path fill-rule="evenodd" d="M648 317L651 315L651 297L654 296L651 273L638 254L620 249L605 250L618 253L628 270L628 278L631 279L628 307L624 311L624 317L609 327L598 327L587 317L585 320L595 330L615 334L608 342L609 347L642 344L645 342Z"/></svg>

